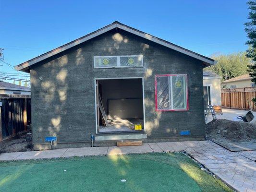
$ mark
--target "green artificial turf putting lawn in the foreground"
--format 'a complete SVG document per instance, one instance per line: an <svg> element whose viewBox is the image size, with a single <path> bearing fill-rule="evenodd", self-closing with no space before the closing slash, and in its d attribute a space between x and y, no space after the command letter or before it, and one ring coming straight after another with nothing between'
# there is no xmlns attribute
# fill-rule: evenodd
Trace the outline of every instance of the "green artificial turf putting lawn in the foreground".
<svg viewBox="0 0 256 192"><path fill-rule="evenodd" d="M0 163L0 192L49 191L232 192L180 153Z"/></svg>

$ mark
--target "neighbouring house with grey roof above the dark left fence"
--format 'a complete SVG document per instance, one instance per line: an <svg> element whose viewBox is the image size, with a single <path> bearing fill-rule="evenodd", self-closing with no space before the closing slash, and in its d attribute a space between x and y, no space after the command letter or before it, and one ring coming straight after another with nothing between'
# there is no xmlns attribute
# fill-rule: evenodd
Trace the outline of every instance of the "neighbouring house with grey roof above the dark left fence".
<svg viewBox="0 0 256 192"><path fill-rule="evenodd" d="M30 95L30 88L0 81L0 94Z"/></svg>

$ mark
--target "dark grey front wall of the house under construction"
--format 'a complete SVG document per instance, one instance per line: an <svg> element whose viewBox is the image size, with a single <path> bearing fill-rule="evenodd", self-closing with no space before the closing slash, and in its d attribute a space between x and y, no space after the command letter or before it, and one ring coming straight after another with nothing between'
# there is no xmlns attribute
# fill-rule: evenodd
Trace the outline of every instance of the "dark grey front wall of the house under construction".
<svg viewBox="0 0 256 192"><path fill-rule="evenodd" d="M144 67L94 69L94 56L144 56ZM94 78L144 77L146 134L150 139L205 136L202 61L119 29L33 65L31 74L33 144L46 136L58 143L90 141L96 133ZM188 74L188 111L155 111L155 74ZM64 145L62 145L64 146ZM70 146L70 145L66 145Z"/></svg>

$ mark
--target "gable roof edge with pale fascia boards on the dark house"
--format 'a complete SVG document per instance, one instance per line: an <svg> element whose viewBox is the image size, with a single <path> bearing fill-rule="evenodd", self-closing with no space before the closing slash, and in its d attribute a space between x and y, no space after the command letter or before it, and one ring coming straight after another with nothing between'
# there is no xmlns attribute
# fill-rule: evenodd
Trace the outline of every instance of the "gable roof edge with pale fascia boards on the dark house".
<svg viewBox="0 0 256 192"><path fill-rule="evenodd" d="M55 49L53 49L53 50L51 50L49 52L46 52L46 53L44 53L42 55L39 55L38 57L36 57L34 59L31 59L31 60L28 60L28 61L26 61L24 63L21 63L21 64L17 65L15 67L15 69L18 70L18 71L24 71L25 72L29 68L29 66L34 65L34 64L36 64L39 61L45 60L45 59L47 59L47 58L49 58L51 56L54 56L54 55L56 55L58 53L61 53L64 50L67 50L67 49L72 48L72 47L74 47L76 45L84 43L85 41L88 41L89 39L92 39L92 38L94 38L96 36L99 36L99 35L101 35L103 33L106 33L106 32L108 32L108 31L110 31L110 30L112 30L114 28L122 29L122 30L130 32L130 33L132 33L134 35L141 36L141 37L146 38L146 39L148 39L150 41L158 43L158 44L160 44L162 46L165 46L165 47L174 49L176 51L179 51L179 52L181 52L183 54L189 55L189 56L191 56L193 58L196 58L198 60L202 60L204 62L204 64L206 64L206 65L211 65L211 64L217 63L217 61L215 61L215 60L213 60L211 58L205 57L203 55L195 53L195 52L193 52L191 50L188 50L186 48L182 48L182 47L180 47L178 45L175 45L175 44L173 44L171 42L168 42L166 40L160 39L160 38L158 38L156 36L151 36L151 35L149 35L147 33L144 33L142 31L134 29L134 28L132 28L130 26L127 26L125 24L121 24L118 21L115 21L112 24L109 24L109 25L107 25L107 26L105 26L105 27L103 27L101 29L98 29L97 31L94 31L94 32L89 33L89 34L87 34L85 36L82 36L82 37L80 37L80 38L78 38L76 40L73 40L73 41L71 41L71 42L69 42L69 43L67 43L67 44L65 44L65 45L63 45L63 46L61 46L59 48L55 48Z"/></svg>

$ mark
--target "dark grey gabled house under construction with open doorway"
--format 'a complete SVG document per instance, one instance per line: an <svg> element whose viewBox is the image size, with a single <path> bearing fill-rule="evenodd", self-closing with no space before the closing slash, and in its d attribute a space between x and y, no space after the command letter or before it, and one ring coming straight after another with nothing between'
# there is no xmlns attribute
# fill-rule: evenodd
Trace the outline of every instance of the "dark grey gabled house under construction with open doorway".
<svg viewBox="0 0 256 192"><path fill-rule="evenodd" d="M34 149L205 139L203 68L215 61L114 22L28 60ZM134 129L136 126L136 130ZM140 129L141 127L141 129Z"/></svg>

